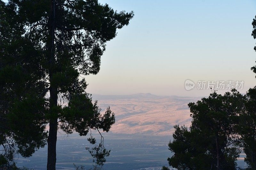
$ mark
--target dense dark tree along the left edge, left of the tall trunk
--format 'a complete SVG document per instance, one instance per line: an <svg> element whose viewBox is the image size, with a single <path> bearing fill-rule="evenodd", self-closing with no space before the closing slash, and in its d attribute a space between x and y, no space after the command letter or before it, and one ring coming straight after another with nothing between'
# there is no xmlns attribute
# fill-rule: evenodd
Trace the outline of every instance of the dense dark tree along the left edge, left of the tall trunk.
<svg viewBox="0 0 256 170"><path fill-rule="evenodd" d="M47 138L40 55L15 10L0 1L0 166L5 167L15 166L15 153L31 156Z"/></svg>

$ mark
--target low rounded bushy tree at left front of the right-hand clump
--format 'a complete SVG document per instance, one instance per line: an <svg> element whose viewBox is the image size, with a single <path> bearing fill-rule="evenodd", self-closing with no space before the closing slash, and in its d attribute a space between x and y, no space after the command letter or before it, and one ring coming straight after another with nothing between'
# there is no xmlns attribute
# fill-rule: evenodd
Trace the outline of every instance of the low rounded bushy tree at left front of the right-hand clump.
<svg viewBox="0 0 256 170"><path fill-rule="evenodd" d="M174 126L173 141L168 144L174 153L168 158L169 165L177 169L211 169L212 157L207 153L205 145L208 141L196 130L188 131L185 126Z"/></svg>

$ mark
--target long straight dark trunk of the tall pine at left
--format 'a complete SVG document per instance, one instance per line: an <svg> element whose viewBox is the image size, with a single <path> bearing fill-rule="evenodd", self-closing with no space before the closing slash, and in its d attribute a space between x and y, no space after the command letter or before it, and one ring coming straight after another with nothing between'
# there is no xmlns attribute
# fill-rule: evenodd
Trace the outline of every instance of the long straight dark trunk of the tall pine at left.
<svg viewBox="0 0 256 170"><path fill-rule="evenodd" d="M57 128L58 128L58 113L56 113L56 107L58 102L58 87L56 83L52 83L52 76L56 73L56 61L55 61L55 0L49 0L49 20L48 30L49 37L46 43L47 55L49 59L49 79L50 79L50 129L47 139L48 145L48 157L47 157L47 170L55 170L56 167L56 142L57 142Z"/></svg>

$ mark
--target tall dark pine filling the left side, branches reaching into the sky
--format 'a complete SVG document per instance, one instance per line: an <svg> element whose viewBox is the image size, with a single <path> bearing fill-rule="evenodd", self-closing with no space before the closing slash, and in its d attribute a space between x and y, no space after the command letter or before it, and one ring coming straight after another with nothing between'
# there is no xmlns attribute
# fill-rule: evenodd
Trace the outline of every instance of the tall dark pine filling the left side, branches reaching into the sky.
<svg viewBox="0 0 256 170"><path fill-rule="evenodd" d="M10 94L2 102L5 111L1 116L4 119L9 116L10 122L16 123L15 128L23 123L36 127L36 139L33 136L31 139L41 142L36 142L33 148L45 144L42 130L49 123L47 169L54 170L58 128L85 136L90 129L108 131L115 122L109 108L101 115L97 101L92 103L81 75L99 72L106 42L116 36L117 29L129 24L133 12L116 12L97 0L0 2L4 9L0 40L5 43L1 42L0 49L1 92ZM5 25L9 26L7 30ZM23 122L26 116L29 119ZM21 137L19 133L25 131L18 130L17 136ZM88 140L96 142L93 137ZM21 146L26 144L22 138L20 142ZM101 141L99 148L102 146ZM91 151L99 164L105 161L102 156L109 154L105 148L95 147Z"/></svg>

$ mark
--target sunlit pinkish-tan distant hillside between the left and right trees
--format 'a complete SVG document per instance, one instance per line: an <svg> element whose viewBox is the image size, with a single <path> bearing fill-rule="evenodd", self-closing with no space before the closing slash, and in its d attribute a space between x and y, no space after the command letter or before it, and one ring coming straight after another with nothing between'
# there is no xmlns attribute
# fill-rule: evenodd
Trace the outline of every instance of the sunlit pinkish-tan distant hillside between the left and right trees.
<svg viewBox="0 0 256 170"><path fill-rule="evenodd" d="M111 132L117 134L172 135L175 124L191 123L189 102L200 97L157 96L151 93L131 95L92 94L102 112L110 106L116 123Z"/></svg>

